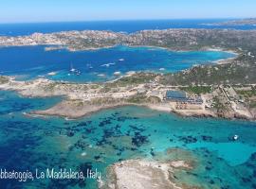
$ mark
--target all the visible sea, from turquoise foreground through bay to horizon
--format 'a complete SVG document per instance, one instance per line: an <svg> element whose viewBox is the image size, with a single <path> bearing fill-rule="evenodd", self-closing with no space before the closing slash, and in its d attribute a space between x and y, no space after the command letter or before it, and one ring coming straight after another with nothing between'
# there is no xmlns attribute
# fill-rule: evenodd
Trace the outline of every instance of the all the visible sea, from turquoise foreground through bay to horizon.
<svg viewBox="0 0 256 189"><path fill-rule="evenodd" d="M136 32L172 26L198 28L209 22L19 24L1 25L0 33L16 36L93 28ZM178 26L179 23L182 24ZM234 56L221 51L174 52L152 47L115 46L78 52L45 51L45 47L0 48L0 75L16 76L19 80L46 77L71 82L102 82L116 78L115 72L121 75L130 71L175 73L195 64L214 63ZM70 73L72 68L81 74ZM185 118L135 106L104 110L76 120L27 116L27 112L46 110L63 98L28 98L12 91L0 91L0 169L33 173L36 169L45 171L47 168L82 172L97 169L104 180L109 165L124 160L185 160L192 163L193 169L174 171L174 180L180 185L206 189L256 188L255 122ZM238 140L233 140L234 135L239 136ZM98 183L93 179L0 179L0 188L95 189Z"/></svg>

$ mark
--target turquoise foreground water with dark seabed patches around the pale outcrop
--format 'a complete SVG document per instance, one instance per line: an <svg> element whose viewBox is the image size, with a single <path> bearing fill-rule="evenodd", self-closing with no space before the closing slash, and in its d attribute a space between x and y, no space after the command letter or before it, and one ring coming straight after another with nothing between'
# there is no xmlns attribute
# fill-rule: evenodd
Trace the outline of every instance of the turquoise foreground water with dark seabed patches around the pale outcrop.
<svg viewBox="0 0 256 189"><path fill-rule="evenodd" d="M59 100L0 92L1 168L89 167L104 174L109 164L126 159L182 159L191 161L194 169L175 172L177 182L203 188L255 188L254 122L181 118L138 107L107 110L73 121L22 114L46 109ZM234 134L240 136L236 142L231 140ZM95 180L0 182L9 188L96 188Z"/></svg>

